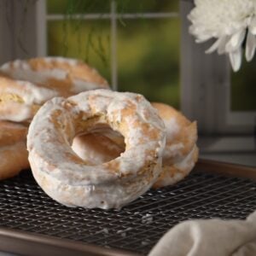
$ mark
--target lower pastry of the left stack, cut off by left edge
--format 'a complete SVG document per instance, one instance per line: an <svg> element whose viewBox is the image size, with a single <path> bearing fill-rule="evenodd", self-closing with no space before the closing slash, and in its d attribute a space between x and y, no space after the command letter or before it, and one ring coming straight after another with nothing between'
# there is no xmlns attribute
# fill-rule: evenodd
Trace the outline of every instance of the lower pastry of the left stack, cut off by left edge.
<svg viewBox="0 0 256 256"><path fill-rule="evenodd" d="M24 125L0 122L0 180L29 167L26 133Z"/></svg>

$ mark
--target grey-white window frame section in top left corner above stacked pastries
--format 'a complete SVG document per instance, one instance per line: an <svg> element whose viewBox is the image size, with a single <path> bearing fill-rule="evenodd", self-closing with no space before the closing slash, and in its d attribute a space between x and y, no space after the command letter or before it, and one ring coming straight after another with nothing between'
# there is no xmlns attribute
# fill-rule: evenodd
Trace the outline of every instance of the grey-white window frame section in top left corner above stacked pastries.
<svg viewBox="0 0 256 256"><path fill-rule="evenodd" d="M0 1L0 64L46 55L45 0Z"/></svg>

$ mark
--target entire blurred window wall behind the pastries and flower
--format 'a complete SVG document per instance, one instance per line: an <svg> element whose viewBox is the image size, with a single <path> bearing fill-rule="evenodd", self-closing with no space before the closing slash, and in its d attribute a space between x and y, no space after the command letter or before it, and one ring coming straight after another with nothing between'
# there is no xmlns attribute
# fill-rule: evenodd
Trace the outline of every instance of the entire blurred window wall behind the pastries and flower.
<svg viewBox="0 0 256 256"><path fill-rule="evenodd" d="M113 90L180 109L199 127L201 158L256 166L256 58L233 73L212 42L189 35L189 0L1 2L0 61L35 55L84 60ZM210 44L211 43L211 44Z"/></svg>

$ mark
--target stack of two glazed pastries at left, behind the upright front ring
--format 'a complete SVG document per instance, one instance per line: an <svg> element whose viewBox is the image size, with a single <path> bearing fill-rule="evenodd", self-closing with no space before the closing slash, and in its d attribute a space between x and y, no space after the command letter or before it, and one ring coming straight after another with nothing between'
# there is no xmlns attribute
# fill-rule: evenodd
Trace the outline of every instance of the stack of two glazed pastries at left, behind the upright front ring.
<svg viewBox="0 0 256 256"><path fill-rule="evenodd" d="M82 61L37 58L0 67L0 179L29 168L26 133L38 109L55 96L106 88L108 82Z"/></svg>

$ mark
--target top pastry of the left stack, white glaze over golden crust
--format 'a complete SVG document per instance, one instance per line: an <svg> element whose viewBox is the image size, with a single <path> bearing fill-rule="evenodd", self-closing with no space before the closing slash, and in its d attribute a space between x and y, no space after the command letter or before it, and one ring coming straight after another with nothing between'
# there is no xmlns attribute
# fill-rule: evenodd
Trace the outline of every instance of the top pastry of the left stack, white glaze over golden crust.
<svg viewBox="0 0 256 256"><path fill-rule="evenodd" d="M32 119L44 102L86 90L108 89L108 82L83 61L42 57L0 67L0 120Z"/></svg>

